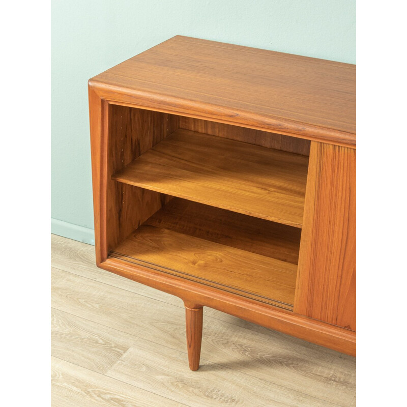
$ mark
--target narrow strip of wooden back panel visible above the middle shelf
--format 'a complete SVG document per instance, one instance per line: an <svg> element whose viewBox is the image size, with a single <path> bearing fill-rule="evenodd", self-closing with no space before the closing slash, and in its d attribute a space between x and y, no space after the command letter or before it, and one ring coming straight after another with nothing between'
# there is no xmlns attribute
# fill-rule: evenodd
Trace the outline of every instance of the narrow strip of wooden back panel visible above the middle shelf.
<svg viewBox="0 0 407 407"><path fill-rule="evenodd" d="M180 117L180 128L309 156L310 141L303 138L187 117Z"/></svg>

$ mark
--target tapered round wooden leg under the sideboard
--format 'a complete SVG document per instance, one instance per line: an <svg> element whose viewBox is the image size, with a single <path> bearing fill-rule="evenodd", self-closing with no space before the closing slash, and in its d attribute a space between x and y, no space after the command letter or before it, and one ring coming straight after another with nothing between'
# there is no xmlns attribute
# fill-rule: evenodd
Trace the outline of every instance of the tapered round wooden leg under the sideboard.
<svg viewBox="0 0 407 407"><path fill-rule="evenodd" d="M189 368L193 371L199 368L200 345L202 342L202 316L202 307L196 309L185 307L188 362Z"/></svg>

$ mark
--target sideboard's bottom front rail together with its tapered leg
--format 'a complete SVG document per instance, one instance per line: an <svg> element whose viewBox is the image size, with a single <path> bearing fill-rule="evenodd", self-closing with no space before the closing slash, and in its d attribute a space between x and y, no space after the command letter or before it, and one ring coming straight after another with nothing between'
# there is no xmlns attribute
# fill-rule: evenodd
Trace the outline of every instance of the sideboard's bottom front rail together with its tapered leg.
<svg viewBox="0 0 407 407"><path fill-rule="evenodd" d="M327 324L292 311L219 292L199 283L160 274L117 258L107 258L98 267L133 281L160 289L184 301L186 308L189 365L199 367L202 337L202 307L208 306L245 321L274 329L347 355L356 356L356 332Z"/></svg>

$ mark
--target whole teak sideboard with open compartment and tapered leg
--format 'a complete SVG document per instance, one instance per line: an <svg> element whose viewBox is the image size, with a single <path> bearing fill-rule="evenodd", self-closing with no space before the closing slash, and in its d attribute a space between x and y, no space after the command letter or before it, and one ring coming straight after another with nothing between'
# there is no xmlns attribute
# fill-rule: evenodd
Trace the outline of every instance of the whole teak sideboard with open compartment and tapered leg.
<svg viewBox="0 0 407 407"><path fill-rule="evenodd" d="M356 353L355 65L173 37L89 80L98 267ZM273 346L271 343L270 346Z"/></svg>

